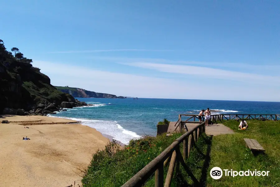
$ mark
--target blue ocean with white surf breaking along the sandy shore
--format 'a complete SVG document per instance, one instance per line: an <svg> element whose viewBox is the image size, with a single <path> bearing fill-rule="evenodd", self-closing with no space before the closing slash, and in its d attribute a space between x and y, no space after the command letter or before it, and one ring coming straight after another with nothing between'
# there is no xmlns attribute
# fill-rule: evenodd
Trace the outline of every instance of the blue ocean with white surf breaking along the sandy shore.
<svg viewBox="0 0 280 187"><path fill-rule="evenodd" d="M50 116L82 122L128 144L143 135L156 135L157 122L166 118L176 122L178 114L198 114L201 109L215 110L212 114L280 114L280 102L215 101L152 98L77 98L92 106L61 111Z"/></svg>

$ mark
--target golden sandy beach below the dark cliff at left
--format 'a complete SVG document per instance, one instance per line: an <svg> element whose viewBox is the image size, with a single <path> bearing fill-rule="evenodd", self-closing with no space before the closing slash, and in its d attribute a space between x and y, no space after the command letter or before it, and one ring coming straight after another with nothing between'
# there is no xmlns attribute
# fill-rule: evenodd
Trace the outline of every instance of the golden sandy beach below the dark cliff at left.
<svg viewBox="0 0 280 187"><path fill-rule="evenodd" d="M69 119L3 115L2 120L13 122L0 123L0 186L5 187L81 185L80 173L71 165L87 167L92 154L109 141L91 127L53 124L75 122ZM26 136L30 140L22 140Z"/></svg>

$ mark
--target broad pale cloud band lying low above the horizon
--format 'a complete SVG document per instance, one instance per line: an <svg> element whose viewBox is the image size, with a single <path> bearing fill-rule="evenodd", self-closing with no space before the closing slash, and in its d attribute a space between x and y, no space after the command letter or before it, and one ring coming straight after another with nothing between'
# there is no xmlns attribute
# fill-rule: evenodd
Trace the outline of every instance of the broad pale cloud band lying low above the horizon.
<svg viewBox="0 0 280 187"><path fill-rule="evenodd" d="M39 67L42 73L50 77L51 84L57 86L68 85L96 92L145 98L279 101L279 87L264 89L247 83L242 84L242 90L240 90L240 85L223 84L219 91L214 90L206 94L205 90L211 90L212 84L199 86L188 79L178 81L100 71L59 62L33 61L34 66ZM267 97L268 95L269 97Z"/></svg>

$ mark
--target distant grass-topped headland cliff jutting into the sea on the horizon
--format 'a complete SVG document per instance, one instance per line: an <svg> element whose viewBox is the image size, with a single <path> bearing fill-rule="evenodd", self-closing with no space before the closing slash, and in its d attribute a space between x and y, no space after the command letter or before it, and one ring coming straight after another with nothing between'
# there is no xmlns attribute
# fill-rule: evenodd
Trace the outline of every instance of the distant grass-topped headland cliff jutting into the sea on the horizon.
<svg viewBox="0 0 280 187"><path fill-rule="evenodd" d="M125 98L122 96L117 97L116 95L109 94L109 93L98 93L92 92L81 88L72 88L72 87L62 87L56 86L56 88L63 92L69 93L73 97L80 97L80 98Z"/></svg>

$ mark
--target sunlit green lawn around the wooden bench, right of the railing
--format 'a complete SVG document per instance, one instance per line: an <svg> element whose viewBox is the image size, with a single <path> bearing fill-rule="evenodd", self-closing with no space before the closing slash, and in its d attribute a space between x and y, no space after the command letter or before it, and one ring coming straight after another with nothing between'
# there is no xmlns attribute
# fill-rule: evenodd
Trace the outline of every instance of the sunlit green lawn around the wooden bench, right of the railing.
<svg viewBox="0 0 280 187"><path fill-rule="evenodd" d="M224 125L234 130L234 134L213 137L211 162L208 168L207 186L280 186L280 122L247 121L249 129L238 130L239 122L227 121ZM266 150L265 154L254 156L245 147L243 138L256 139ZM264 170L268 176L236 176L214 180L210 177L213 167L221 169Z"/></svg>

